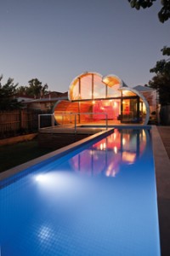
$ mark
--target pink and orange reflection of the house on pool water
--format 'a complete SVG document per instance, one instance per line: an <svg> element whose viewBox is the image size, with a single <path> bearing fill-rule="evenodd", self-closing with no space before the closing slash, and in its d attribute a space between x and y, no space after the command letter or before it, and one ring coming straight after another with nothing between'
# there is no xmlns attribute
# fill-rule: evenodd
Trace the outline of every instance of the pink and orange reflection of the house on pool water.
<svg viewBox="0 0 170 256"><path fill-rule="evenodd" d="M144 153L145 147L144 130L115 130L109 137L74 156L71 166L76 172L89 176L115 177L120 166L133 164Z"/></svg>

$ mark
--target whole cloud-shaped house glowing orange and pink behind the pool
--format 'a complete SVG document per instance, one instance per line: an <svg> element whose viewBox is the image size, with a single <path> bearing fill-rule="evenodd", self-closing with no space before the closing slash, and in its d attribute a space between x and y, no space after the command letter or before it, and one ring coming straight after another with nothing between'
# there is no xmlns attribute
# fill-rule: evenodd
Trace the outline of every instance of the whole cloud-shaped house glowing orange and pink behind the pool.
<svg viewBox="0 0 170 256"><path fill-rule="evenodd" d="M73 79L68 101L57 102L54 117L58 124L77 123L147 125L150 108L138 90L127 87L116 75L82 73ZM75 114L77 113L77 114Z"/></svg>

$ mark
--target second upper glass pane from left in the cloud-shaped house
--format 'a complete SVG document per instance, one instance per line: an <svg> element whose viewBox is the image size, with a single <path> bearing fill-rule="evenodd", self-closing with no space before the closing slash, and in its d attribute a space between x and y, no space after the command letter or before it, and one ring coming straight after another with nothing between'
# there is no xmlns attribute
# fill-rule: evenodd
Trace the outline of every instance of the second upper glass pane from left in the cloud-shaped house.
<svg viewBox="0 0 170 256"><path fill-rule="evenodd" d="M92 74L81 78L80 99L92 99Z"/></svg>

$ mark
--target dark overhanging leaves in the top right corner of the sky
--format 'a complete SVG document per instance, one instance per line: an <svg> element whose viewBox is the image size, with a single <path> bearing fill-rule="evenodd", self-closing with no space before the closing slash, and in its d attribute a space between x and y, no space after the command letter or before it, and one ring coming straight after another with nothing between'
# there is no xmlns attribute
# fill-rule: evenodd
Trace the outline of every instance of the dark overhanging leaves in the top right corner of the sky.
<svg viewBox="0 0 170 256"><path fill-rule="evenodd" d="M150 8L156 0L128 0L132 8ZM170 18L170 0L161 0L162 8L158 13L159 20L163 23Z"/></svg>

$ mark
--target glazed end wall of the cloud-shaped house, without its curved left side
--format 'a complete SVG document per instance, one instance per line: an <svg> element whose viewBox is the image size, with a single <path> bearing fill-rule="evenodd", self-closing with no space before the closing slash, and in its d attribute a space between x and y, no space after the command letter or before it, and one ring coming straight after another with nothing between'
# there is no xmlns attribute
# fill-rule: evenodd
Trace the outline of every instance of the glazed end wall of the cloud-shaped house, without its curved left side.
<svg viewBox="0 0 170 256"><path fill-rule="evenodd" d="M83 73L77 77L70 86L69 99L79 102L79 113L82 113L79 119L87 122L108 119L141 123L146 110L142 99L128 87L122 87L120 79L111 75L102 77L98 73Z"/></svg>

